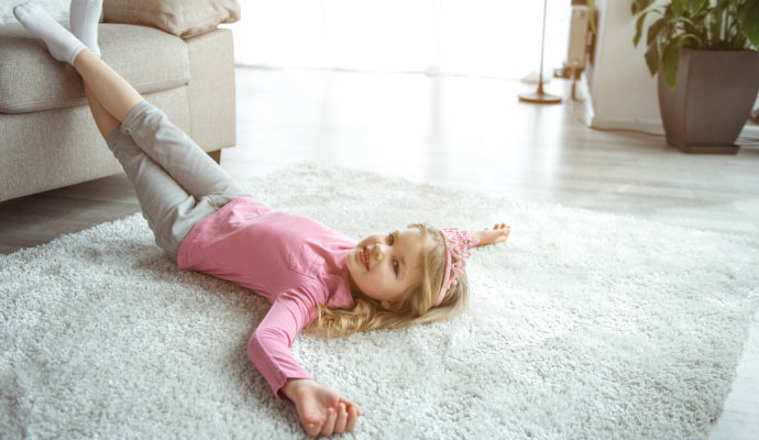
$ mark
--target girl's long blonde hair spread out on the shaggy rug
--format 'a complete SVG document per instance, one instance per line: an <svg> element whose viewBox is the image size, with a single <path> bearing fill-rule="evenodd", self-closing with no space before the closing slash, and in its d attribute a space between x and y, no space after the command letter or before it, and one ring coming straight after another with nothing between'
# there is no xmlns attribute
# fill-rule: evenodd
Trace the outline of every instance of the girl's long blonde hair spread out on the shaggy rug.
<svg viewBox="0 0 759 440"><path fill-rule="evenodd" d="M458 283L448 289L440 306L432 308L442 286L446 270L446 242L440 231L427 223L414 223L408 228L419 229L422 241L426 242L426 238L429 237L432 244L424 250L421 280L404 293L396 309L387 311L378 300L367 297L362 292L356 292L353 294L352 308L330 309L319 304L317 317L304 329L305 333L338 338L359 331L399 329L438 321L461 315L466 310L469 279L465 272Z"/></svg>

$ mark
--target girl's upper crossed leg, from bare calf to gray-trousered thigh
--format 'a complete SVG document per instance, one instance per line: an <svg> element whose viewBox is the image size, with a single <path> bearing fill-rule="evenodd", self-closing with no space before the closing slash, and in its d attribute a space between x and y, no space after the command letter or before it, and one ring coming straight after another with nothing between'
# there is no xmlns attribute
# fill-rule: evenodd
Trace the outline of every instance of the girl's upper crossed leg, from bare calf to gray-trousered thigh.
<svg viewBox="0 0 759 440"><path fill-rule="evenodd" d="M217 205L244 195L202 148L100 58L82 51L75 58L74 67L92 98L121 123L121 130L130 134L187 193L198 199L211 197Z"/></svg>

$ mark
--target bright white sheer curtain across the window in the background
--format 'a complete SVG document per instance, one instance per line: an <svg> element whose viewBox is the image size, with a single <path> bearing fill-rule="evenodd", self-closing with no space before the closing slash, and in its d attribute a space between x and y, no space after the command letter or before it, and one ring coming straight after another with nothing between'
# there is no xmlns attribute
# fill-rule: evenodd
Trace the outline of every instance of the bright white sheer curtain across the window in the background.
<svg viewBox="0 0 759 440"><path fill-rule="evenodd" d="M241 0L238 65L520 79L540 67L541 0ZM543 75L566 54L571 0L549 0Z"/></svg>

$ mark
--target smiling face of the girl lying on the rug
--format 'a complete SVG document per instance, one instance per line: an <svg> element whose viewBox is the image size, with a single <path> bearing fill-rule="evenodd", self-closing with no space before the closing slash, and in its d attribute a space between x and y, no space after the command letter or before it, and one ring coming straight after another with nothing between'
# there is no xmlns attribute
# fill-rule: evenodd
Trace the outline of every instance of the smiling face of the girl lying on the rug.
<svg viewBox="0 0 759 440"><path fill-rule="evenodd" d="M365 238L348 254L351 285L393 310L403 293L421 282L426 244L417 228Z"/></svg>

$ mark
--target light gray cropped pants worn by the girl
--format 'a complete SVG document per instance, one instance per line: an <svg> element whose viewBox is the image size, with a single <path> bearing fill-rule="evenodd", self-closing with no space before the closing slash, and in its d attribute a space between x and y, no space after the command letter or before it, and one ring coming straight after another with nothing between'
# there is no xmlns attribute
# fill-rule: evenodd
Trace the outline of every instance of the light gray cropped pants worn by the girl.
<svg viewBox="0 0 759 440"><path fill-rule="evenodd" d="M134 186L155 243L174 261L200 220L238 197L250 197L147 101L136 105L106 143Z"/></svg>

